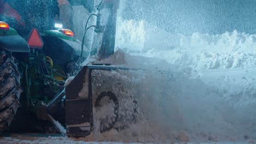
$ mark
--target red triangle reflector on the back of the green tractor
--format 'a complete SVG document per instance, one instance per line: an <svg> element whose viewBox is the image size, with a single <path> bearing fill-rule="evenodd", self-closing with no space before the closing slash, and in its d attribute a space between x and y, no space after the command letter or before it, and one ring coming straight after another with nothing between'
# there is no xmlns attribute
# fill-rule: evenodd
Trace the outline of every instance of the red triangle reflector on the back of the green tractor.
<svg viewBox="0 0 256 144"><path fill-rule="evenodd" d="M30 46L30 48L33 48L33 49L43 48L43 45L44 45L43 40L36 28L33 28L31 30L27 40L27 44Z"/></svg>

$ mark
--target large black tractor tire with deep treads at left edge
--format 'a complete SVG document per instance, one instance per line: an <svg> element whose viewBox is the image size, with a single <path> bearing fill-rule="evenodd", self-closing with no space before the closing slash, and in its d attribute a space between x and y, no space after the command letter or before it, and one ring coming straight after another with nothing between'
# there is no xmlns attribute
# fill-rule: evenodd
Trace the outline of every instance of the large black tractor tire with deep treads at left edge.
<svg viewBox="0 0 256 144"><path fill-rule="evenodd" d="M21 74L16 59L0 49L0 135L8 130L20 107Z"/></svg>

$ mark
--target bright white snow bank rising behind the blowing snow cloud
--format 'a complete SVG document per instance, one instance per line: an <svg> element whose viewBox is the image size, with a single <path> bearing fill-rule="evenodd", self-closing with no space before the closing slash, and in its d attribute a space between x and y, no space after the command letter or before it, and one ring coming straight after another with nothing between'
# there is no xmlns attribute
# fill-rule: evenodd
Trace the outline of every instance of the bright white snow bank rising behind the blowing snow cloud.
<svg viewBox="0 0 256 144"><path fill-rule="evenodd" d="M139 30L129 28L132 31L129 32L127 27L138 27ZM172 34L150 26L145 20L123 20L121 17L118 31L120 43L116 44L116 49L177 65L178 69L216 89L227 103L247 113L245 123L251 123L249 129L254 129L256 34L237 31L217 35ZM133 35L139 38L132 39ZM129 47L130 43L141 47Z"/></svg>

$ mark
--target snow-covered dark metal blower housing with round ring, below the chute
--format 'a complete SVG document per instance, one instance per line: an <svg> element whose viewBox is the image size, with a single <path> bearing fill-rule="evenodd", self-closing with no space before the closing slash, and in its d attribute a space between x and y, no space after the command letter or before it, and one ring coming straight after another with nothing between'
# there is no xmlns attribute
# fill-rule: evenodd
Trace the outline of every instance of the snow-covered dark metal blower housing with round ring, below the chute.
<svg viewBox="0 0 256 144"><path fill-rule="evenodd" d="M92 130L123 130L135 122L137 101L129 93L133 85L121 85L130 70L86 65L79 71L66 87L67 136L87 136Z"/></svg>

